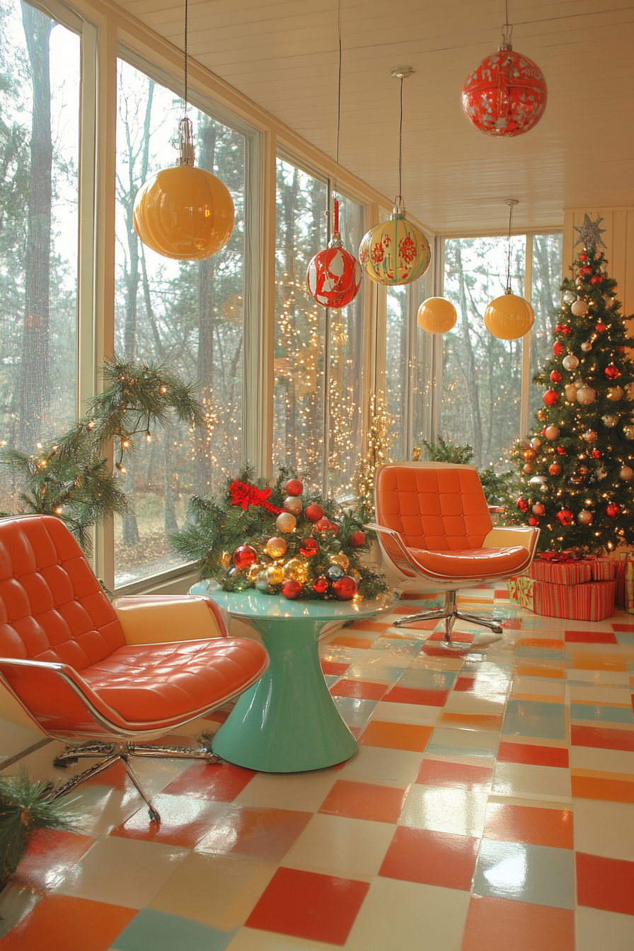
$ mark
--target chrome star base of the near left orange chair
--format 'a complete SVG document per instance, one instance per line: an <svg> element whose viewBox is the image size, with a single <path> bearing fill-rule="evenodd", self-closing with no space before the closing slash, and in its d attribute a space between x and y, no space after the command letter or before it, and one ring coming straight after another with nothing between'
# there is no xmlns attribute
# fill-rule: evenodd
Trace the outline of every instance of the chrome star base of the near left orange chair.
<svg viewBox="0 0 634 951"><path fill-rule="evenodd" d="M134 773L134 770L130 766L130 756L138 756L141 758L156 757L160 759L202 760L203 763L207 763L209 765L216 765L222 762L220 757L216 756L215 753L212 753L209 749L205 748L191 749L190 747L157 747L152 744L119 743L117 741L102 743L99 741L90 741L89 743L84 743L76 747L67 746L66 749L53 760L53 766L58 769L66 769L83 758L96 759L97 763L94 763L91 767L88 767L83 772L77 773L76 776L73 776L62 786L57 786L53 792L52 798L60 799L62 796L66 796L68 792L75 788L75 786L79 786L80 783L84 783L86 779L92 779L94 776L99 776L101 773L106 772L106 769L109 769L110 767L114 766L115 763L118 763L119 760L121 760L125 766L125 769L127 770L127 775L130 777L134 786L136 786L137 791L144 800L145 805L147 805L150 822L160 823L161 816L145 795L144 790Z"/></svg>

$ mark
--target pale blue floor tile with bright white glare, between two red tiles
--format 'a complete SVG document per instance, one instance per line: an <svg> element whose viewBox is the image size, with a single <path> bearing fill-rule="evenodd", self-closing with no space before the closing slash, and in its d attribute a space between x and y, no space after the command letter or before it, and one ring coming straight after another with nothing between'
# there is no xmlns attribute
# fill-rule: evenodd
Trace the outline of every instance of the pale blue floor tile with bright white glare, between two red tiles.
<svg viewBox="0 0 634 951"><path fill-rule="evenodd" d="M574 852L483 839L471 891L473 895L574 908Z"/></svg>

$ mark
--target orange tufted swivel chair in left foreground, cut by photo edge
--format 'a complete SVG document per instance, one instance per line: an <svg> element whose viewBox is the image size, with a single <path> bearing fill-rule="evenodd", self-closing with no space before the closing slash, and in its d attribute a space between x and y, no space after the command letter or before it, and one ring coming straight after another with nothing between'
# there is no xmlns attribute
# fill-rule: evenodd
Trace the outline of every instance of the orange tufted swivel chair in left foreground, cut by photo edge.
<svg viewBox="0 0 634 951"><path fill-rule="evenodd" d="M219 763L205 749L146 741L223 706L267 666L258 642L227 637L209 598L130 597L112 605L58 518L0 519L0 677L49 736L92 741L67 747L56 767L98 758L56 798L121 759L160 822L129 757Z"/></svg>

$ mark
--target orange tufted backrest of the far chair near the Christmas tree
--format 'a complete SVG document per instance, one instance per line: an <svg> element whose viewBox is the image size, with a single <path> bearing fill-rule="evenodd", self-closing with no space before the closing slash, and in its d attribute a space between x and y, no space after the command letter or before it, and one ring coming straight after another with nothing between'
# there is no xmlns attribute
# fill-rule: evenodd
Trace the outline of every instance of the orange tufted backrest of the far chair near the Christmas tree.
<svg viewBox="0 0 634 951"><path fill-rule="evenodd" d="M380 466L375 476L379 525L403 535L408 548L430 552L482 548L489 506L475 466L410 462ZM384 535L388 551L394 542Z"/></svg>

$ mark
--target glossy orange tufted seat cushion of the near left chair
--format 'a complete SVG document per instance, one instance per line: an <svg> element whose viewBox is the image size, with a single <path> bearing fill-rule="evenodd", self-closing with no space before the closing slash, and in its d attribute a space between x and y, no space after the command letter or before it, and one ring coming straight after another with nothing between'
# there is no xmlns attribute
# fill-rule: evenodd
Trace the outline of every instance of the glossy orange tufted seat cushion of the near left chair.
<svg viewBox="0 0 634 951"><path fill-rule="evenodd" d="M129 724L168 722L221 706L266 669L266 651L246 638L128 645L82 670L88 687Z"/></svg>

